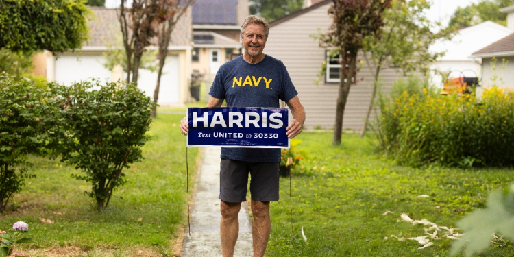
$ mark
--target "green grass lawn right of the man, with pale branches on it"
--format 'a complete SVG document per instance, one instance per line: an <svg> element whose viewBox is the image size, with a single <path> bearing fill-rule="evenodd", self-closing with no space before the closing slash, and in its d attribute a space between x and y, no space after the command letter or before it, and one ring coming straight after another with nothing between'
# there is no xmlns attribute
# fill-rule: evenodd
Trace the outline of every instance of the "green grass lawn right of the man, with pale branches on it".
<svg viewBox="0 0 514 257"><path fill-rule="evenodd" d="M451 228L465 214L485 207L489 191L507 188L514 178L513 169L400 167L377 157L373 138L356 134L344 134L339 147L331 145L331 132L304 132L297 139L302 143L295 151L304 151L306 160L293 171L294 239L289 178L281 178L281 199L271 204L269 257L448 256L448 238L430 239L434 245L425 249L417 249L416 241L391 238L426 235L422 225L397 222L400 215ZM382 215L387 210L393 213ZM480 256L513 255L507 243Z"/></svg>

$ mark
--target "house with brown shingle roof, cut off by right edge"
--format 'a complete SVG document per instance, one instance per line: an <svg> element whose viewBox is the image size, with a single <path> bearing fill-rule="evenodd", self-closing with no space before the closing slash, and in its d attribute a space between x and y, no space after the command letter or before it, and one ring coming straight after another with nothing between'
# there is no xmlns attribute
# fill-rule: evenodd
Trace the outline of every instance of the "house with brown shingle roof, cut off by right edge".
<svg viewBox="0 0 514 257"><path fill-rule="evenodd" d="M514 5L500 11L507 13L507 27L511 29L511 33L514 32ZM482 88L477 91L478 97L483 89L491 86L514 90L514 34L475 51L471 57L481 59L482 63Z"/></svg>

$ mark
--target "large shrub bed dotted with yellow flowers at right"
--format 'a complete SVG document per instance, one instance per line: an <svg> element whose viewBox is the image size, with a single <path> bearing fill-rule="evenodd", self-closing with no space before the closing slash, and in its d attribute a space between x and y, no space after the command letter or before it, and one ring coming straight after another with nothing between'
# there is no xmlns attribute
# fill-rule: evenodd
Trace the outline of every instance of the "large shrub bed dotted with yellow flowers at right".
<svg viewBox="0 0 514 257"><path fill-rule="evenodd" d="M380 145L398 162L419 165L512 166L514 93L485 90L474 95L421 95L406 91L387 98L378 117Z"/></svg>

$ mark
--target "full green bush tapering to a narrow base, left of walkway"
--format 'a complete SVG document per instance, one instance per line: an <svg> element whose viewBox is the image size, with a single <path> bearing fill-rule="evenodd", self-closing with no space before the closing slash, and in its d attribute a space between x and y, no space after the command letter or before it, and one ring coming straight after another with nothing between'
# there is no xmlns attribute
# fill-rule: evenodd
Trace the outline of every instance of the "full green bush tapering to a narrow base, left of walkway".
<svg viewBox="0 0 514 257"><path fill-rule="evenodd" d="M143 158L154 102L126 83L51 84L51 94L54 114L44 126L52 156L81 169L85 174L73 177L90 182L88 195L106 208L114 188L125 182L123 169Z"/></svg>

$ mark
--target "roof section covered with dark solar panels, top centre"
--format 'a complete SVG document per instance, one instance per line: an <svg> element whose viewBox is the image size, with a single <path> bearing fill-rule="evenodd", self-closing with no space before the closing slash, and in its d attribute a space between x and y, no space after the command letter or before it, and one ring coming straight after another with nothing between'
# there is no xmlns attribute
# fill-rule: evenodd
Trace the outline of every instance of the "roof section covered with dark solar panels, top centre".
<svg viewBox="0 0 514 257"><path fill-rule="evenodd" d="M237 25L238 0L196 0L193 24Z"/></svg>

